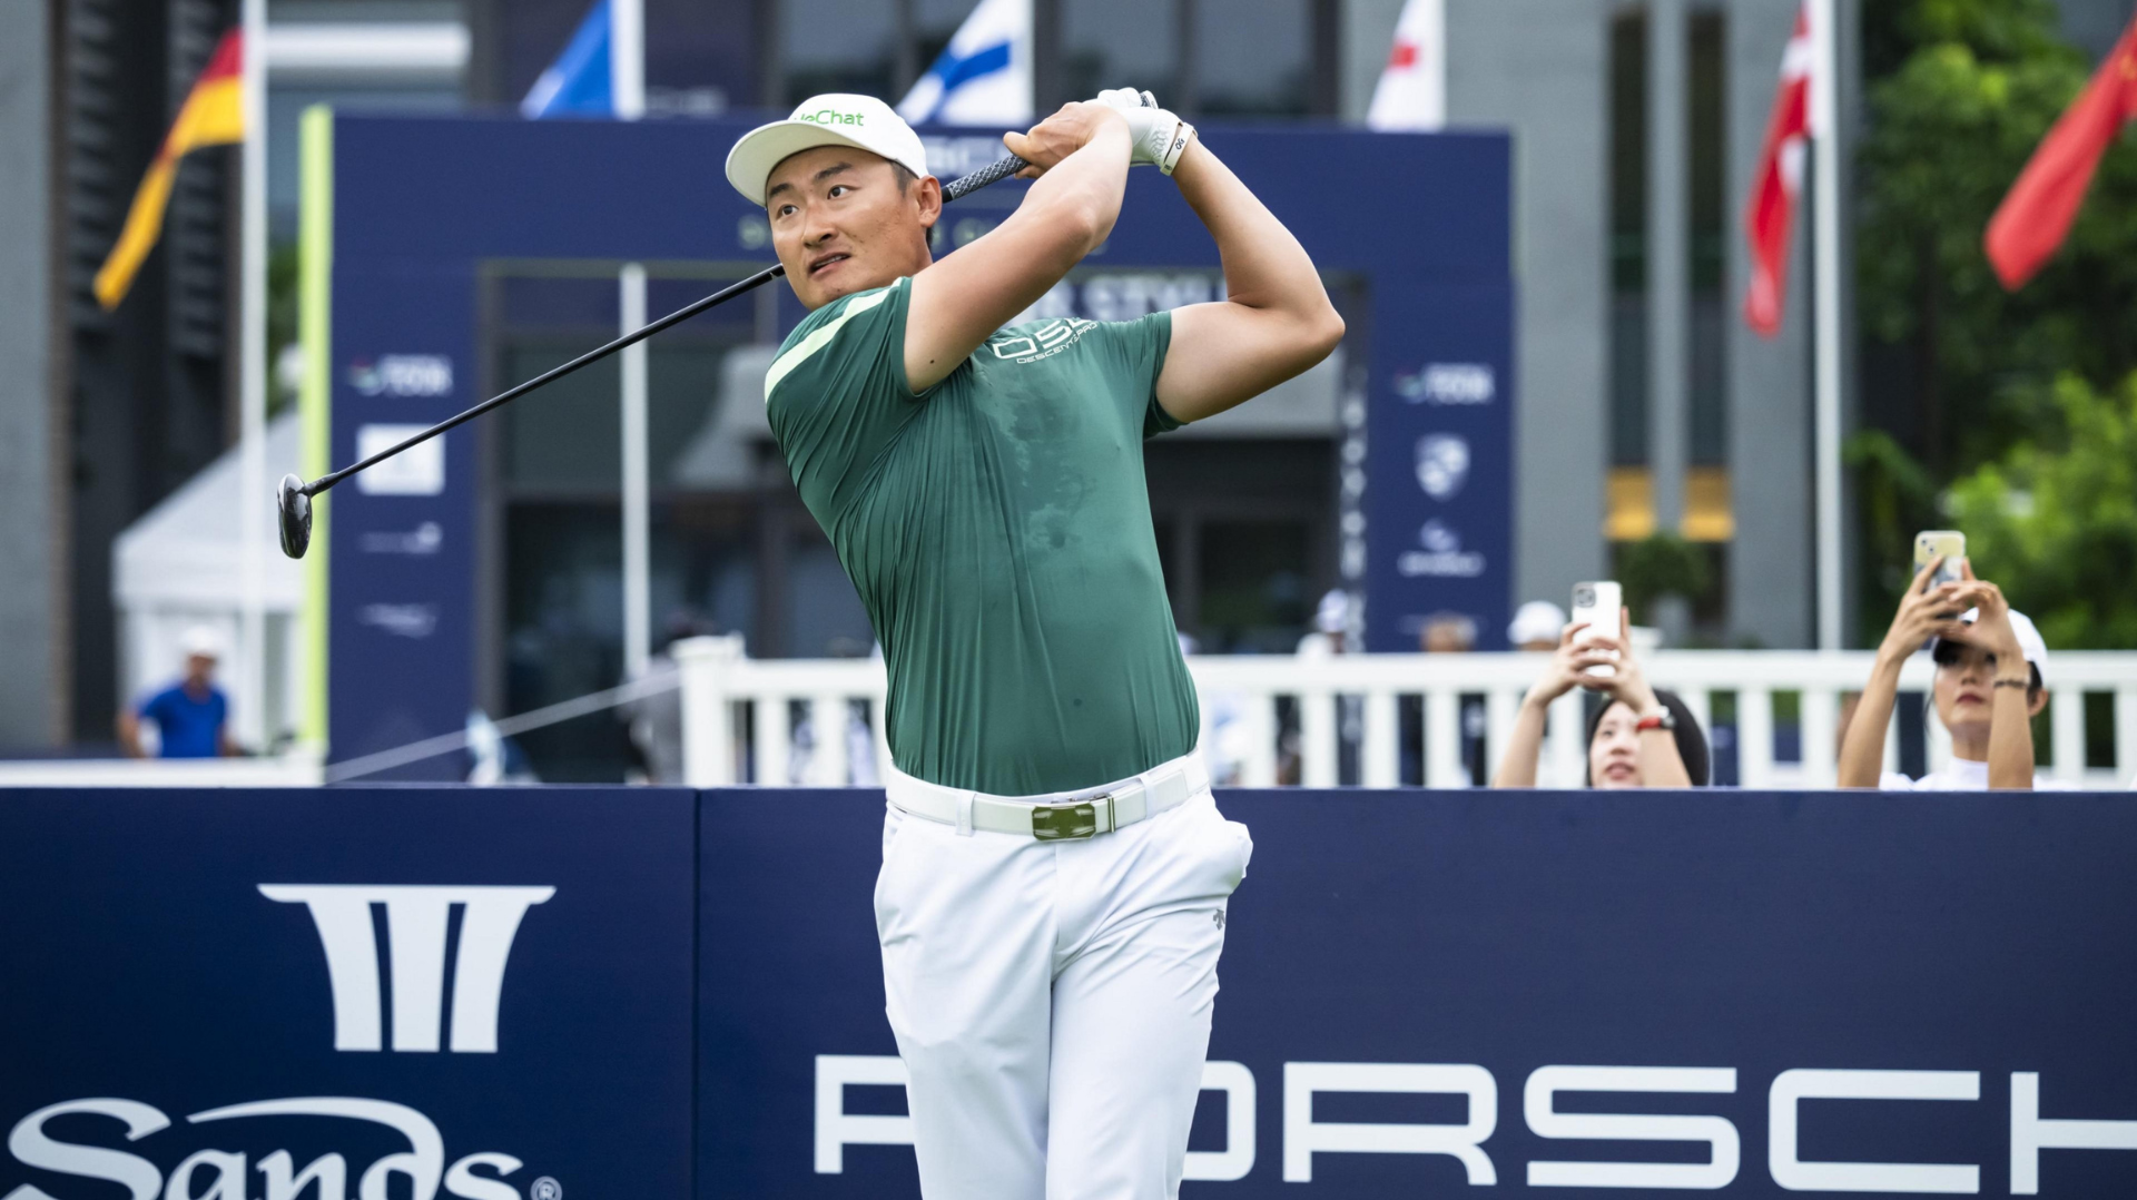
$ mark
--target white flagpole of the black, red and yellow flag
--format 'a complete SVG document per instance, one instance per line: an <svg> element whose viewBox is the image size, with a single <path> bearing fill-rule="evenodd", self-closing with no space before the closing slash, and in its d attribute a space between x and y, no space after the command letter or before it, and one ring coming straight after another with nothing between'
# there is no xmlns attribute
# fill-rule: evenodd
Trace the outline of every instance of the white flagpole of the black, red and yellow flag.
<svg viewBox="0 0 2137 1200"><path fill-rule="evenodd" d="M241 284L237 334L237 552L241 578L239 729L265 751L267 717L267 0L244 0Z"/></svg>

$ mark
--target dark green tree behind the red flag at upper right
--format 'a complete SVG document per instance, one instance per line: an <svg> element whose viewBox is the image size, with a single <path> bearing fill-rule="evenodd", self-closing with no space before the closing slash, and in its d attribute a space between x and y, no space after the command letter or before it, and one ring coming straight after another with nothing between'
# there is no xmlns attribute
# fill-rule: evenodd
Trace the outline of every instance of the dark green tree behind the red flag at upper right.
<svg viewBox="0 0 2137 1200"><path fill-rule="evenodd" d="M2137 148L2107 152L2062 252L2011 295L1981 240L2086 58L2045 0L1900 0L1868 24L1861 332L1915 361L1921 456L1962 473L2054 419L2058 374L2137 368Z"/></svg>

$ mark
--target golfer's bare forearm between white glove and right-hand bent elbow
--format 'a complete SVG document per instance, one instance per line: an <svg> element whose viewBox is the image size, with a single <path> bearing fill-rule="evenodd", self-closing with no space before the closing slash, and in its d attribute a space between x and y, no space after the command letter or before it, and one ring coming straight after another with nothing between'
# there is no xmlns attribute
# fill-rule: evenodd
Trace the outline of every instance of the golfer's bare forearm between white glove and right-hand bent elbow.
<svg viewBox="0 0 2137 1200"><path fill-rule="evenodd" d="M1306 248L1201 139L1180 156L1173 182L1216 240L1231 304L1289 317L1308 336L1342 336L1342 319Z"/></svg>

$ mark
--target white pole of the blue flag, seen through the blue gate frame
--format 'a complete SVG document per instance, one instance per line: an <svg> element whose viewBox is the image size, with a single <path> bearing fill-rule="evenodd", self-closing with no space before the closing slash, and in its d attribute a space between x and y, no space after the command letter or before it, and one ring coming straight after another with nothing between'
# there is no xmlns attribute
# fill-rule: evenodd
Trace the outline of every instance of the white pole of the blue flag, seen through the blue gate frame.
<svg viewBox="0 0 2137 1200"><path fill-rule="evenodd" d="M609 0L609 79L618 120L645 116L645 4ZM645 263L618 272L618 314L624 334L645 323ZM645 674L652 659L652 511L645 447L645 342L622 353L622 511L624 511L624 680Z"/></svg>

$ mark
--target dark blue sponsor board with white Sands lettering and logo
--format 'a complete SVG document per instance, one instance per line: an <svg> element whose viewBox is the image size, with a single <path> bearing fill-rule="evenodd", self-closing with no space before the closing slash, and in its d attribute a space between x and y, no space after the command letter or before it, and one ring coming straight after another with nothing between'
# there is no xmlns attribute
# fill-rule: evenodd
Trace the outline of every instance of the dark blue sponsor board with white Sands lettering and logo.
<svg viewBox="0 0 2137 1200"><path fill-rule="evenodd" d="M0 1196L686 1196L695 800L0 794Z"/></svg>

